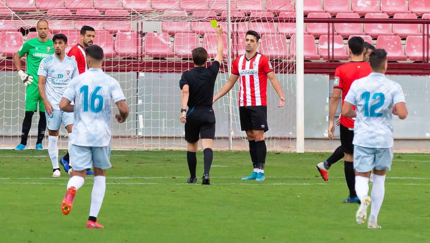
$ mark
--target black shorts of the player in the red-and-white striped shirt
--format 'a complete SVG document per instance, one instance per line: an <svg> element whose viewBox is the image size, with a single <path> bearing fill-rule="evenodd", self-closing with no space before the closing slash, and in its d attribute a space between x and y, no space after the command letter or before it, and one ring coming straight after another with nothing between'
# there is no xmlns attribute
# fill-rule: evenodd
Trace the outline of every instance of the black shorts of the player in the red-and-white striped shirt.
<svg viewBox="0 0 430 243"><path fill-rule="evenodd" d="M242 131L249 130L264 130L267 132L267 106L265 105L252 105L240 106L240 128Z"/></svg>

